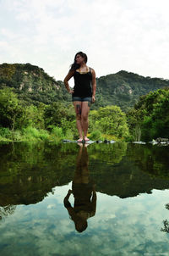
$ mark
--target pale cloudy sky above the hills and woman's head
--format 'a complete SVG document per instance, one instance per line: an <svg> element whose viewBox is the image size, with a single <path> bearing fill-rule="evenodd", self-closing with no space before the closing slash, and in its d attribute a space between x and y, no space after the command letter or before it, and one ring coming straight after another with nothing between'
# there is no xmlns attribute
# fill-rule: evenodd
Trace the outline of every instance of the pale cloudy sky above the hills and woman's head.
<svg viewBox="0 0 169 256"><path fill-rule="evenodd" d="M168 0L0 0L0 64L34 64L63 81L82 51L96 77L169 79L168 9Z"/></svg>

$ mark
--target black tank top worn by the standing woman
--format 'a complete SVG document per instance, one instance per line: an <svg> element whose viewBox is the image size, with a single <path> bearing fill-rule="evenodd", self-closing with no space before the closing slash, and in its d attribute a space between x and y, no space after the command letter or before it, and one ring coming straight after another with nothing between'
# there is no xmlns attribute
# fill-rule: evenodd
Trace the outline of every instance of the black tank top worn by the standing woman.
<svg viewBox="0 0 169 256"><path fill-rule="evenodd" d="M91 70L85 74L74 71L74 93L73 97L91 97Z"/></svg>

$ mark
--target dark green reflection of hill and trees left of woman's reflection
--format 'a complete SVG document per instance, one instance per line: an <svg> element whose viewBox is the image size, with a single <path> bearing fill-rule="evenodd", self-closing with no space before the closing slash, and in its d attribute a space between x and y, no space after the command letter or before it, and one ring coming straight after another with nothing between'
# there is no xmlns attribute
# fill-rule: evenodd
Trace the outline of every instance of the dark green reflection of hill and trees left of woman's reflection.
<svg viewBox="0 0 169 256"><path fill-rule="evenodd" d="M77 147L77 145L74 145ZM37 203L72 179L76 150L17 143L0 147L0 205Z"/></svg>

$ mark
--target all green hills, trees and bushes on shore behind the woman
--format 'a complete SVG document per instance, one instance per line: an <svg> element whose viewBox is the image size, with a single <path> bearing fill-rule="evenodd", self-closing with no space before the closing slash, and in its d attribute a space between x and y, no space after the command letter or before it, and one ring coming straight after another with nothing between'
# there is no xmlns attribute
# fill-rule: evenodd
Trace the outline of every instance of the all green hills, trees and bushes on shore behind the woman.
<svg viewBox="0 0 169 256"><path fill-rule="evenodd" d="M169 81L126 71L101 76L88 136L115 141L168 137L168 86ZM0 116L0 141L78 137L74 106L63 82L31 64L0 65Z"/></svg>

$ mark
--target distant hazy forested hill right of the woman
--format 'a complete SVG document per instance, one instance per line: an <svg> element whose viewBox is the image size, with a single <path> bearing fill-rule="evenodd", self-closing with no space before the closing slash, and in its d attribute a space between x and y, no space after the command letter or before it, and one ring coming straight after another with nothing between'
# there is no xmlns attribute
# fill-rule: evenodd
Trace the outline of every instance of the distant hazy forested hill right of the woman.
<svg viewBox="0 0 169 256"><path fill-rule="evenodd" d="M141 95L169 86L169 81L161 78L144 77L121 70L116 74L97 79L97 94L103 106L112 104L123 110L133 107Z"/></svg>

